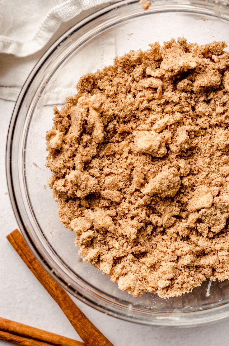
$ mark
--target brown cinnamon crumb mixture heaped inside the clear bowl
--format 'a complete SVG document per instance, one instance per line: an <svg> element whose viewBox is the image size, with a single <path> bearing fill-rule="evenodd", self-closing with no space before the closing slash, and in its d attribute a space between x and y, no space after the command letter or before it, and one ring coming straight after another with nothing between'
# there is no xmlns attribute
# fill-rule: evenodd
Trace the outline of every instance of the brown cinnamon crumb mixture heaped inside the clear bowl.
<svg viewBox="0 0 229 346"><path fill-rule="evenodd" d="M49 185L84 261L135 297L229 278L224 42L117 57L84 75L47 132Z"/></svg>

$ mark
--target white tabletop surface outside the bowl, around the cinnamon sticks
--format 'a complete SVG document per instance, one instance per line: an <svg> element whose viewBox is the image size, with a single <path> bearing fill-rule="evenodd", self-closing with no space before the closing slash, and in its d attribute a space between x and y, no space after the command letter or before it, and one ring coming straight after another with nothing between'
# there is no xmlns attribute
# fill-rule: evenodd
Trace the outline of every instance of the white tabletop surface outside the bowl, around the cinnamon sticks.
<svg viewBox="0 0 229 346"><path fill-rule="evenodd" d="M5 146L14 102L0 100L0 316L80 340L63 312L8 243L17 223L7 192ZM114 346L226 346L228 320L195 328L156 328L121 321L75 299ZM10 345L0 341L0 345Z"/></svg>

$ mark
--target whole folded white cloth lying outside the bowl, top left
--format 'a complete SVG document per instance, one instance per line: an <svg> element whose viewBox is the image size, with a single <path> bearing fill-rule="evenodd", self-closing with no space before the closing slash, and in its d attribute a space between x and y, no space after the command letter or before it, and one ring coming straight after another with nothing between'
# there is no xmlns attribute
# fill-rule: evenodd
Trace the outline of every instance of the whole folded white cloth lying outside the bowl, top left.
<svg viewBox="0 0 229 346"><path fill-rule="evenodd" d="M29 72L68 28L107 0L0 0L0 98L15 101Z"/></svg>

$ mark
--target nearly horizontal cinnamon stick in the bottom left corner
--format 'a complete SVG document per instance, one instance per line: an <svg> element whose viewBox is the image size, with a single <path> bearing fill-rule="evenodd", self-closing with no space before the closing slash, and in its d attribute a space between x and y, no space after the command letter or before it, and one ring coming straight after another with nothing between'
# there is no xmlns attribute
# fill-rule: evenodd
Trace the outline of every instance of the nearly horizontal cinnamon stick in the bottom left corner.
<svg viewBox="0 0 229 346"><path fill-rule="evenodd" d="M0 317L0 339L17 345L83 346L80 341ZM28 344L29 343L29 344Z"/></svg>

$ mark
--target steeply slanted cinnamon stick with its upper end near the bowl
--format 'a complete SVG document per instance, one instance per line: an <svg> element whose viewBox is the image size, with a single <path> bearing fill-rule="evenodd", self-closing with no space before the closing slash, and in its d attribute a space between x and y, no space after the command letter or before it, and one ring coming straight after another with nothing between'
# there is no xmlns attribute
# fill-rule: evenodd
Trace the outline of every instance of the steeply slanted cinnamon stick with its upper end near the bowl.
<svg viewBox="0 0 229 346"><path fill-rule="evenodd" d="M10 244L33 272L46 291L56 301L73 328L77 331L85 346L113 346L111 342L97 329L84 313L75 305L65 290L44 270L31 253L24 238L16 229L7 236Z"/></svg>

